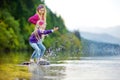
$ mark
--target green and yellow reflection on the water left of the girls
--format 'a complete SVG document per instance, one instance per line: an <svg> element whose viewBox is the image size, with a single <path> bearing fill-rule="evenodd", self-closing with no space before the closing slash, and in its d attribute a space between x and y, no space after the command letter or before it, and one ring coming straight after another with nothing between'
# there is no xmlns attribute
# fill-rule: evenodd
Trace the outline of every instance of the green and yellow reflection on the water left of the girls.
<svg viewBox="0 0 120 80"><path fill-rule="evenodd" d="M18 66L27 59L27 53L0 54L0 80L30 80L28 66Z"/></svg>

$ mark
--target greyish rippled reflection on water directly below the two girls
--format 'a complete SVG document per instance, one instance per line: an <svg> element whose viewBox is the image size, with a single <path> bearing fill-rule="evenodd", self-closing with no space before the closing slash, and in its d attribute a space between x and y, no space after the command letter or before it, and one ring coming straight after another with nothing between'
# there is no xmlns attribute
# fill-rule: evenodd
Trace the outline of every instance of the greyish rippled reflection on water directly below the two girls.
<svg viewBox="0 0 120 80"><path fill-rule="evenodd" d="M31 80L61 80L64 76L65 67L31 64L29 71L33 74Z"/></svg>

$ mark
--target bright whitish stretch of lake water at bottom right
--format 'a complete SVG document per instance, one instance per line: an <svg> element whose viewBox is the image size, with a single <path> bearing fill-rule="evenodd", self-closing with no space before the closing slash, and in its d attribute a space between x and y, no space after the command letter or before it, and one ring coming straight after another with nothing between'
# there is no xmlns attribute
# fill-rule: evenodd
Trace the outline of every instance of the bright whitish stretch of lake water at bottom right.
<svg viewBox="0 0 120 80"><path fill-rule="evenodd" d="M66 78L63 80L119 80L119 74L119 61L81 60L76 63L69 62Z"/></svg>

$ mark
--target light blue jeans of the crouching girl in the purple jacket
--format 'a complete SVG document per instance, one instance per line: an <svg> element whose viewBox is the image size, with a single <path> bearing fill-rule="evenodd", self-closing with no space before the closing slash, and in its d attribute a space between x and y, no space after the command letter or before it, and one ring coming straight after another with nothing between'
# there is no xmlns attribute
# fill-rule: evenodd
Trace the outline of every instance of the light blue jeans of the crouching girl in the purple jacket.
<svg viewBox="0 0 120 80"><path fill-rule="evenodd" d="M39 59L41 57L43 57L44 53L45 53L45 46L43 45L42 41L38 41L37 43L31 43L29 42L31 47L34 49L34 52L31 55L31 58L36 58Z"/></svg>

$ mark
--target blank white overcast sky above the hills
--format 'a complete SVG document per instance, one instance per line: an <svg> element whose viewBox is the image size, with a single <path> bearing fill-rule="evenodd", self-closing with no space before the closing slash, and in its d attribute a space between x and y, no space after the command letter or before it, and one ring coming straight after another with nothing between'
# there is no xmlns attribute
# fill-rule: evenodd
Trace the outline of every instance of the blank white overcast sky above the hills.
<svg viewBox="0 0 120 80"><path fill-rule="evenodd" d="M94 31L120 25L120 0L45 0L69 30Z"/></svg>

